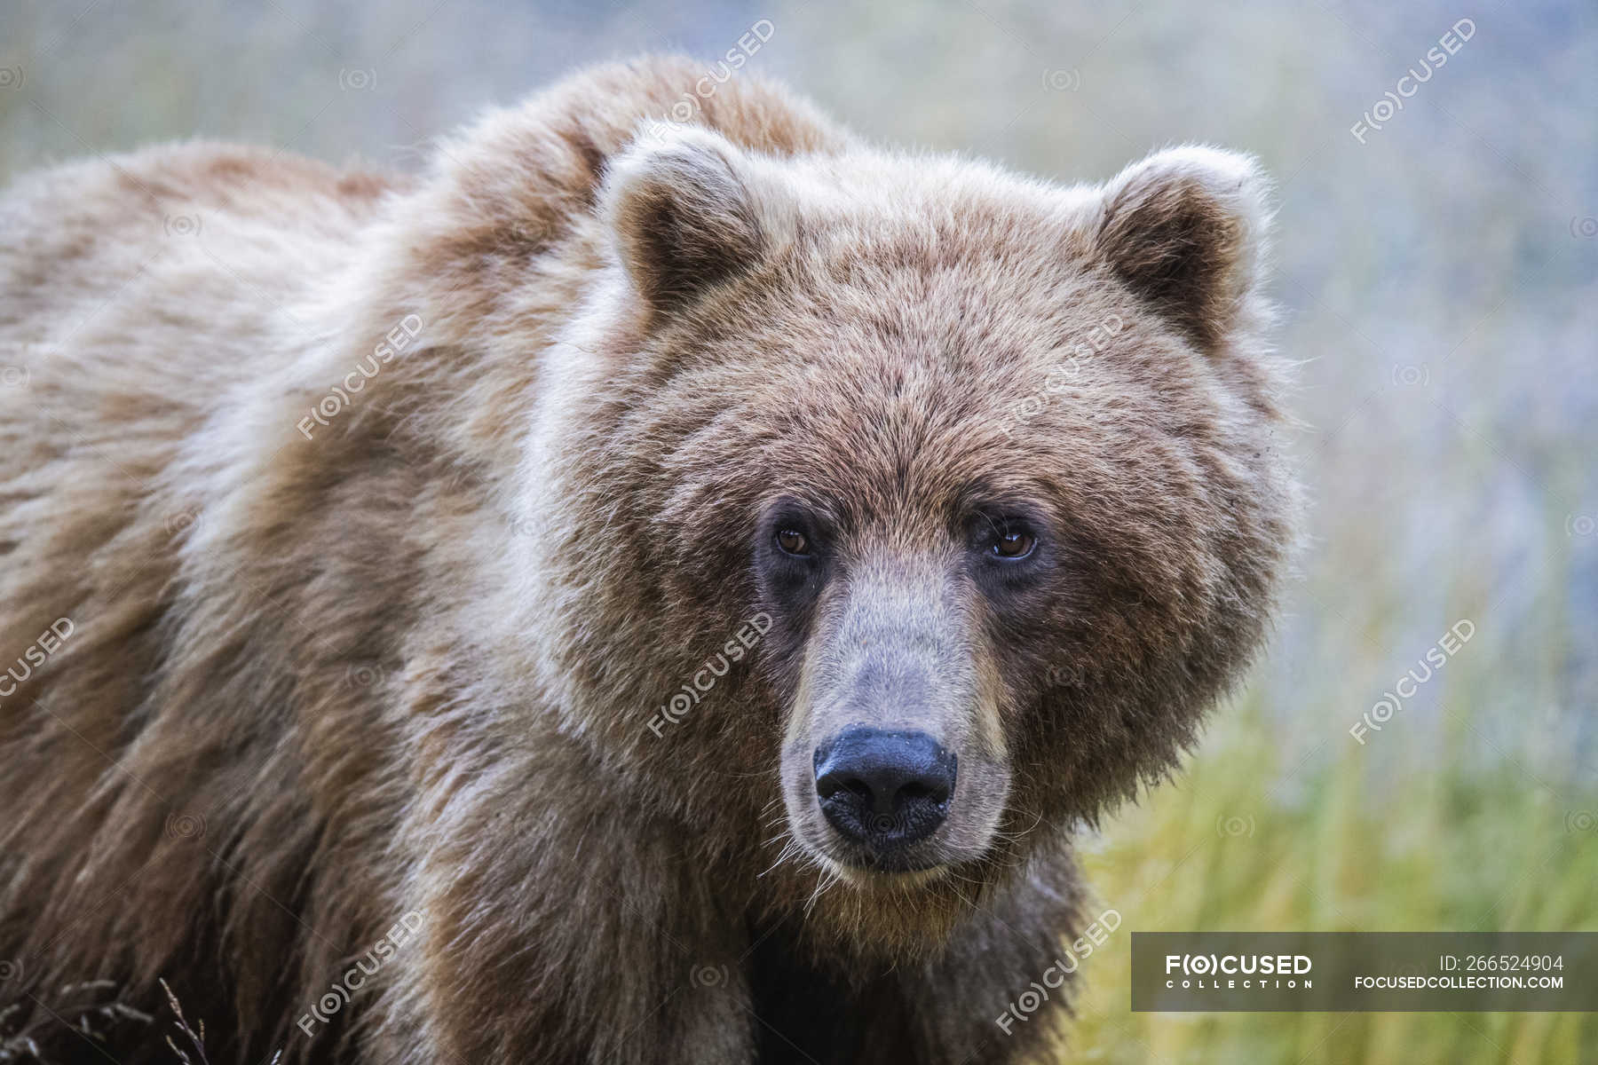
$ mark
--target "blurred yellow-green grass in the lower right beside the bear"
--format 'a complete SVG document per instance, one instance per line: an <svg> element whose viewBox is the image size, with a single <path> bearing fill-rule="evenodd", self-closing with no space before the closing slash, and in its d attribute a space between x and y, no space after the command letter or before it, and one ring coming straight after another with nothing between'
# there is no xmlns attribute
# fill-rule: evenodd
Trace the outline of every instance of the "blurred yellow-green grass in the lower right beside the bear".
<svg viewBox="0 0 1598 1065"><path fill-rule="evenodd" d="M1449 744L1483 709L1454 703ZM1572 810L1529 771L1459 771L1448 750L1393 773L1347 734L1331 758L1285 757L1261 701L1221 717L1179 781L1083 846L1093 912L1123 924L1083 964L1063 1060L1598 1060L1592 1014L1130 1012L1131 931L1598 931L1598 838L1579 818L1598 789Z"/></svg>

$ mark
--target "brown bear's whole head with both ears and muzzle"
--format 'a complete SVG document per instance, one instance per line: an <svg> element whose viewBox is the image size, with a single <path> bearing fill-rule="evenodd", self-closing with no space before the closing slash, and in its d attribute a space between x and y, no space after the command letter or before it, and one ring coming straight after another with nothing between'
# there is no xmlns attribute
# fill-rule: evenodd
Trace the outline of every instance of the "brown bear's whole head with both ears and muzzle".
<svg viewBox="0 0 1598 1065"><path fill-rule="evenodd" d="M678 731L625 725L638 758L716 766L684 805L746 840L780 797L778 865L865 894L991 881L1165 773L1290 536L1261 196L1202 148L1055 188L642 136L545 406L591 433L564 482L604 485L558 492L609 560L572 583L617 604L566 651L666 642L642 690L591 677L660 703L761 637L722 691L682 683Z"/></svg>

